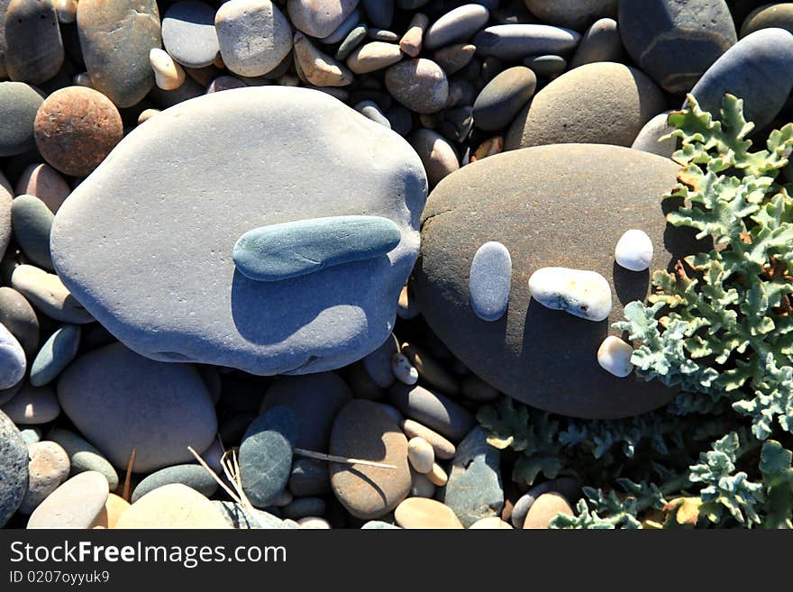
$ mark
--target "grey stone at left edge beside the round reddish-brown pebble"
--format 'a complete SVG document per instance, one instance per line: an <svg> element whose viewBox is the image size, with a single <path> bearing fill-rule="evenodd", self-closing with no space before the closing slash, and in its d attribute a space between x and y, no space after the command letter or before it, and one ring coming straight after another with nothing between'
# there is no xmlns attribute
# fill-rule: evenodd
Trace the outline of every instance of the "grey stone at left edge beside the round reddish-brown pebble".
<svg viewBox="0 0 793 592"><path fill-rule="evenodd" d="M0 82L0 156L14 156L35 145L33 122L44 98L23 82Z"/></svg>

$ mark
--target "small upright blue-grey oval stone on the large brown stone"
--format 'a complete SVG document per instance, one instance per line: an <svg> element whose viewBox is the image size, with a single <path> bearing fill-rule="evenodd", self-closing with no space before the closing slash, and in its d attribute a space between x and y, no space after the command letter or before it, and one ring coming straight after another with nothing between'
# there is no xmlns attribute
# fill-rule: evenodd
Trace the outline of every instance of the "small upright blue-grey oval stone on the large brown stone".
<svg viewBox="0 0 793 592"><path fill-rule="evenodd" d="M512 259L497 241L483 244L471 261L469 277L471 307L483 321L497 321L509 305Z"/></svg>

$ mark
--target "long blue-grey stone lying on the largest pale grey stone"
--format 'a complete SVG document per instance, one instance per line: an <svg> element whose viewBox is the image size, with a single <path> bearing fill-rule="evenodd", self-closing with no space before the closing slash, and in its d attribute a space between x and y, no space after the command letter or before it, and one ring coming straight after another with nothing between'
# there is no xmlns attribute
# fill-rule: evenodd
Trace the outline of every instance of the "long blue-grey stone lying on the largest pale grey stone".
<svg viewBox="0 0 793 592"><path fill-rule="evenodd" d="M395 223L380 216L272 224L240 237L234 245L234 265L246 278L277 282L385 255L399 244L401 236Z"/></svg>

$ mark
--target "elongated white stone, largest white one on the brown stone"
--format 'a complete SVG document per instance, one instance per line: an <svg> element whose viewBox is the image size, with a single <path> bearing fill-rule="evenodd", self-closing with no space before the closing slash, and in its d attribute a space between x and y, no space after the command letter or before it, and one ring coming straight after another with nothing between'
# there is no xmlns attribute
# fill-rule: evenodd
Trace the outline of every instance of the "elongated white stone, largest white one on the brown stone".
<svg viewBox="0 0 793 592"><path fill-rule="evenodd" d="M597 271L537 269L529 278L529 291L541 305L588 321L603 321L611 313L611 287Z"/></svg>

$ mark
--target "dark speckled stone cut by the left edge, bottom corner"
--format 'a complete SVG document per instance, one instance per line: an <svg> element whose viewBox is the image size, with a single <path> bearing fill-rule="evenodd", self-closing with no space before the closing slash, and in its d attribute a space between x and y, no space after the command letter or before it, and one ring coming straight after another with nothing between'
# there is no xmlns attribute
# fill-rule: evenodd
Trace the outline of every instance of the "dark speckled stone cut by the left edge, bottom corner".
<svg viewBox="0 0 793 592"><path fill-rule="evenodd" d="M8 415L0 411L0 528L28 490L28 447Z"/></svg>

